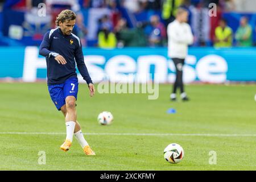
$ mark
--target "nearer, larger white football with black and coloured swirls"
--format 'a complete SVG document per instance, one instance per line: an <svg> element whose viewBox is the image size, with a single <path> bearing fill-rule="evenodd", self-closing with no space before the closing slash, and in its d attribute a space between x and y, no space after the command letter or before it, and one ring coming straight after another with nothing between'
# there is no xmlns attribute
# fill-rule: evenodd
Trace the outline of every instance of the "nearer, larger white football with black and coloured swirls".
<svg viewBox="0 0 256 182"><path fill-rule="evenodd" d="M164 159L172 164L179 163L184 157L183 148L177 143L171 143L164 148Z"/></svg>

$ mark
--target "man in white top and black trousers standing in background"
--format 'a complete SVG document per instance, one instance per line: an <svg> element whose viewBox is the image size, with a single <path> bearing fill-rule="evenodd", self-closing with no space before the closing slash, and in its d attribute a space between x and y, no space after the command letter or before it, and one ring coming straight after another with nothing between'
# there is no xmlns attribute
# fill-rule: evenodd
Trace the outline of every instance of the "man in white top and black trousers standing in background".
<svg viewBox="0 0 256 182"><path fill-rule="evenodd" d="M168 56L174 61L176 68L176 80L171 93L171 100L176 101L177 89L180 89L180 97L183 101L188 101L187 94L183 85L183 65L185 57L188 54L188 45L193 43L193 34L191 27L187 23L188 11L179 8L177 10L176 19L168 24Z"/></svg>

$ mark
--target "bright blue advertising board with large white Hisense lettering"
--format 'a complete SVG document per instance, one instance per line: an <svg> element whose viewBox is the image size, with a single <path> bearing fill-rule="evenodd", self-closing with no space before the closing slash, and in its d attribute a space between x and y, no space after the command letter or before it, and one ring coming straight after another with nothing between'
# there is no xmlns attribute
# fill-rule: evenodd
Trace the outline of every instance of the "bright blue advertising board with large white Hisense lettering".
<svg viewBox="0 0 256 182"><path fill-rule="evenodd" d="M84 48L83 52L94 82L109 77L115 82L127 81L127 75L132 75L133 81L146 82L145 75L150 73L160 83L175 80L167 48ZM0 57L0 78L46 79L46 60L38 47L1 47ZM183 79L187 83L256 81L256 48L189 48Z"/></svg>

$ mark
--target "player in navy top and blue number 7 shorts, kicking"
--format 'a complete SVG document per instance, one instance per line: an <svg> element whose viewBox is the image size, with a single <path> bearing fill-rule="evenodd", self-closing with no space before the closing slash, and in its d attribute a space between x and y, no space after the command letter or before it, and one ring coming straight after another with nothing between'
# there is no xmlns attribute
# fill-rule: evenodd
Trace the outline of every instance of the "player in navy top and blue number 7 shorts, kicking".
<svg viewBox="0 0 256 182"><path fill-rule="evenodd" d="M73 11L61 11L56 18L56 26L58 27L46 32L40 45L39 54L46 57L47 85L52 102L65 117L67 137L60 146L61 150L69 150L73 134L75 134L85 154L95 155L84 139L81 126L76 120L76 100L79 89L76 64L88 84L91 97L94 96L95 89L84 63L80 39L72 34L75 23L76 14Z"/></svg>

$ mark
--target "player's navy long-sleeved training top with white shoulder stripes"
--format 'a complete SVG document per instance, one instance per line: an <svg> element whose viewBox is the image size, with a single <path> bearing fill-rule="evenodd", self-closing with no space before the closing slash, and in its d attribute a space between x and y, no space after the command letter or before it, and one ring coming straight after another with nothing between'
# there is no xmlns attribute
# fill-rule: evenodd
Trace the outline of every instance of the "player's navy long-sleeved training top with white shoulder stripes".
<svg viewBox="0 0 256 182"><path fill-rule="evenodd" d="M62 84L68 78L77 77L76 64L87 84L92 83L84 63L80 39L75 34L64 35L60 28L46 32L39 54L46 57L48 85ZM63 56L67 64L57 63L57 55Z"/></svg>

